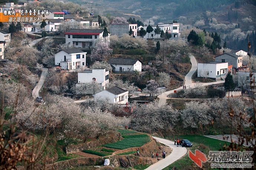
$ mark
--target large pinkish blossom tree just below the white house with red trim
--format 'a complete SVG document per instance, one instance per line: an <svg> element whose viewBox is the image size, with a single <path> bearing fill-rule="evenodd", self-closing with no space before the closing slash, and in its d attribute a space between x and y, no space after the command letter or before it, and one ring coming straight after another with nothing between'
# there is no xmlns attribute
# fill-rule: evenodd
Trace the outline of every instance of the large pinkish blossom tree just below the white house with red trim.
<svg viewBox="0 0 256 170"><path fill-rule="evenodd" d="M108 43L98 42L95 44L95 49L91 52L91 61L103 61L112 52L113 50L109 48Z"/></svg>

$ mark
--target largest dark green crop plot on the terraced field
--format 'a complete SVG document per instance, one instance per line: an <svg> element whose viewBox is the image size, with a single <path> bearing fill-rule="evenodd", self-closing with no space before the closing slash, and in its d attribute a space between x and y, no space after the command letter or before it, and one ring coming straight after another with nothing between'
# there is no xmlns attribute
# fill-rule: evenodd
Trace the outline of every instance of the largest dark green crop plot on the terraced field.
<svg viewBox="0 0 256 170"><path fill-rule="evenodd" d="M115 143L108 143L103 146L114 148L114 149L127 149L130 147L140 147L145 143L150 142L149 137L136 137L136 138L125 138Z"/></svg>

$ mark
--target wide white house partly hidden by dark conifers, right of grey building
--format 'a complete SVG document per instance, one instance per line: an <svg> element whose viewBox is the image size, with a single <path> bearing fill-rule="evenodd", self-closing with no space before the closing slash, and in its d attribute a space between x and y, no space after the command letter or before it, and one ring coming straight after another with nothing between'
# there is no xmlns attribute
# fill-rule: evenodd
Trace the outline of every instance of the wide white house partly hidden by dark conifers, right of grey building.
<svg viewBox="0 0 256 170"><path fill-rule="evenodd" d="M153 29L157 28L157 26L151 26ZM167 31L171 34L171 40L178 40L180 38L180 32L179 27L180 23L170 23L170 24L159 24L158 27L160 27L161 30L164 31L164 33ZM147 30L147 26L144 26L144 30ZM152 31L151 33L147 33L144 38L160 38L160 34L155 35L155 31Z"/></svg>

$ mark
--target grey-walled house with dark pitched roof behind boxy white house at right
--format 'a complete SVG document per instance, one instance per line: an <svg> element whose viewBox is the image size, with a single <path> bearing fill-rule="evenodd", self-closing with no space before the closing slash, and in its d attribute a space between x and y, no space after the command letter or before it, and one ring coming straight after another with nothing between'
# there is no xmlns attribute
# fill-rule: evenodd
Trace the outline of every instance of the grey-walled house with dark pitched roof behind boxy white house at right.
<svg viewBox="0 0 256 170"><path fill-rule="evenodd" d="M226 52L224 54L215 57L216 62L228 62L232 64L232 74L237 72L239 67L243 66L243 56L236 55L232 52Z"/></svg>

